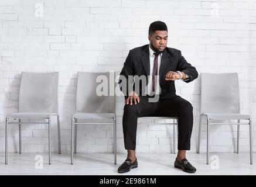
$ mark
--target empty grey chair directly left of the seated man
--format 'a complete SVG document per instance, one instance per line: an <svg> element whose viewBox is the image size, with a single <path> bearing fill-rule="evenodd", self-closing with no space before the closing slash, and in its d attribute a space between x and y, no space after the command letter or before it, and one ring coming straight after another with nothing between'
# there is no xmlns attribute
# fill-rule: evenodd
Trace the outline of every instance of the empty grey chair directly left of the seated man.
<svg viewBox="0 0 256 187"><path fill-rule="evenodd" d="M114 124L114 164L117 164L115 94L110 96L107 91L107 95L97 95L96 91L99 85L97 84L97 77L100 78L100 76L105 78L106 83L100 84L106 86L104 89L107 88L110 91L110 87L114 85L114 82L110 81L110 72L78 72L77 75L76 113L71 118L71 164L73 164L73 154L77 153L78 124ZM111 91L114 91L114 86ZM88 119L113 119L113 123L77 122Z"/></svg>

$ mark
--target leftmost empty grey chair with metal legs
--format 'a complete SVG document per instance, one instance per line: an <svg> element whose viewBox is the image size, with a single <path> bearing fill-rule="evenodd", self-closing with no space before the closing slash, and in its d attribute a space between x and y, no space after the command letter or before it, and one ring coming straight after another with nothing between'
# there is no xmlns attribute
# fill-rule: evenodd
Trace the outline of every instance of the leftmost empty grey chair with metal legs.
<svg viewBox="0 0 256 187"><path fill-rule="evenodd" d="M49 164L51 164L51 117L57 116L59 154L60 120L58 113L58 72L22 72L19 87L18 113L6 116L5 124L5 164L8 164L8 126L19 124L19 153L22 153L21 124L48 124L49 126ZM18 119L19 122L9 122ZM24 122L23 119L47 119L48 122Z"/></svg>

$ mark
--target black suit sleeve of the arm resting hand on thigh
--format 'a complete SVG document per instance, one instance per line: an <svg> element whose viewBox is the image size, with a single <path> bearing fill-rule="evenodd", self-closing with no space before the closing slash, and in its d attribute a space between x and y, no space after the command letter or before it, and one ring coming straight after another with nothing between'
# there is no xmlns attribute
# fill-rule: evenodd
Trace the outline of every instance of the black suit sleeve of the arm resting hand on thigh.
<svg viewBox="0 0 256 187"><path fill-rule="evenodd" d="M120 78L118 80L118 84L122 93L124 93L125 99L128 98L128 95L131 91L134 91L133 88L133 76L134 76L134 66L132 63L131 51L125 60L124 67L122 67L122 71L120 72Z"/></svg>

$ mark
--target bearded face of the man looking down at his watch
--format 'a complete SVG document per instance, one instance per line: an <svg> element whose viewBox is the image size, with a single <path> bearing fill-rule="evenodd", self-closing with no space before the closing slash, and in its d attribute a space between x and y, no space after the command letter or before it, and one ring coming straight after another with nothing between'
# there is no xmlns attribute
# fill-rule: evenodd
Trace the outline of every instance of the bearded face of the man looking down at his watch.
<svg viewBox="0 0 256 187"><path fill-rule="evenodd" d="M167 30L156 30L155 33L148 36L148 40L158 51L165 50L167 45L168 32Z"/></svg>

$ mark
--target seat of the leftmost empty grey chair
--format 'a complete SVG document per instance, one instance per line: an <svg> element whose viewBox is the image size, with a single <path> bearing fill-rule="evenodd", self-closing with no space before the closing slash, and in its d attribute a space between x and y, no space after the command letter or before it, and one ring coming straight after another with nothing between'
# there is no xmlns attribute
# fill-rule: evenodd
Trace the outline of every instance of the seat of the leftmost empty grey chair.
<svg viewBox="0 0 256 187"><path fill-rule="evenodd" d="M10 113L6 117L8 118L19 118L19 119L33 119L33 118L49 118L51 116L56 116L57 113L43 113L43 112L17 112L17 113Z"/></svg>

